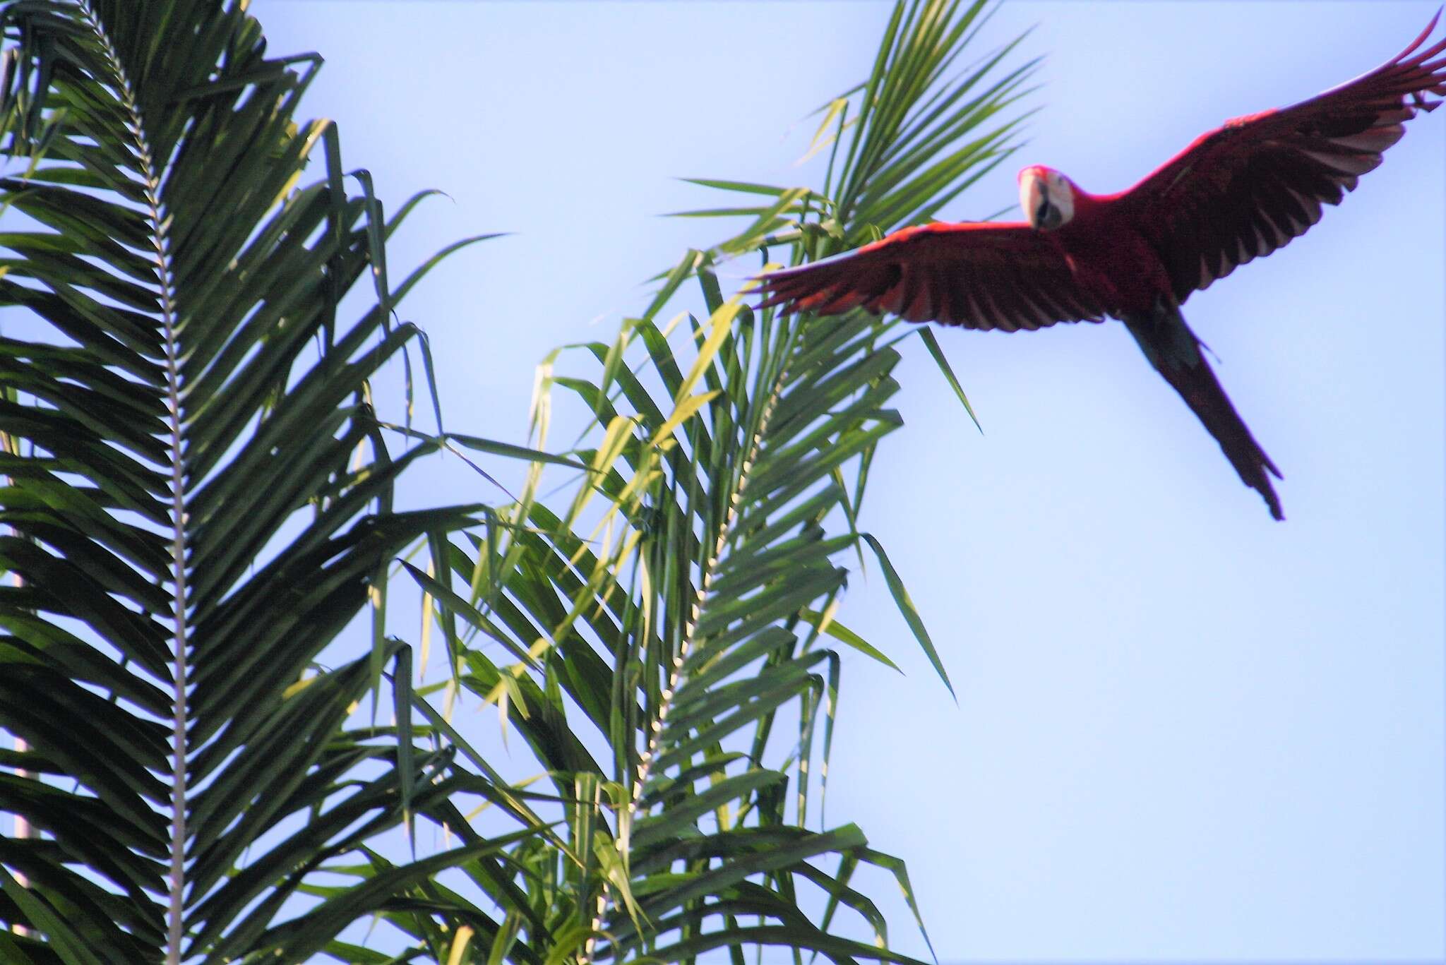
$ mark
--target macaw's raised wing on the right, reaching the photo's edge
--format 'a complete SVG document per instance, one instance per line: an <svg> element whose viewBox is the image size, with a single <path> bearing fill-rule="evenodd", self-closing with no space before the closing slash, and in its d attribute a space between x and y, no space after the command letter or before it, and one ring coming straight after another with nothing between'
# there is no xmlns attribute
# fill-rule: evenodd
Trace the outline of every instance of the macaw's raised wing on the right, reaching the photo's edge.
<svg viewBox="0 0 1446 965"><path fill-rule="evenodd" d="M1381 163L1417 110L1436 109L1426 95L1446 95L1446 39L1427 38L1439 17L1374 71L1228 120L1112 198L1154 242L1176 301L1304 234L1323 204L1340 204Z"/></svg>

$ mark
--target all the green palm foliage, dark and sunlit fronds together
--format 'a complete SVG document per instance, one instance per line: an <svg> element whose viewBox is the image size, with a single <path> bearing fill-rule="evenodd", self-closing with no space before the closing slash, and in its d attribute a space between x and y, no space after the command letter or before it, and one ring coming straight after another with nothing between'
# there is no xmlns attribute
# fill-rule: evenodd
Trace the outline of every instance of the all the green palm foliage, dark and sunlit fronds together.
<svg viewBox="0 0 1446 965"><path fill-rule="evenodd" d="M382 366L408 412L412 352L429 373L395 310L437 259L393 286L386 239L421 198L388 220L335 130L294 122L317 58L268 59L240 3L0 9L0 304L35 320L0 337L0 810L33 829L0 839L0 958L907 961L852 887L876 865L912 901L902 862L813 807L834 647L888 663L840 622L865 551L947 683L855 525L904 336L753 313L714 268L927 220L1002 161L1032 65L1004 71L1011 43L957 71L983 14L901 0L821 111L824 184L704 182L758 201L694 214L749 224L612 343L554 353L534 447L509 447L442 431L429 375L435 431L373 408ZM593 425L548 456L557 391ZM463 449L528 459L519 498L393 508L412 463ZM447 680L414 687L396 574ZM370 647L324 666L367 609ZM495 705L538 780L502 775L454 700ZM418 856L416 822L445 845ZM385 952L343 938L369 916Z"/></svg>

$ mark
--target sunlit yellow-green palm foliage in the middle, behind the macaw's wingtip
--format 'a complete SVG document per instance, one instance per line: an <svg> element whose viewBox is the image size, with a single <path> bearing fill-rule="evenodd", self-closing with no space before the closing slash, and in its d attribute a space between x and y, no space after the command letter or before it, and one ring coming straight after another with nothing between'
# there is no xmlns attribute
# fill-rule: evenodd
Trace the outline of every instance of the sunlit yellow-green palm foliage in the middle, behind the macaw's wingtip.
<svg viewBox="0 0 1446 965"><path fill-rule="evenodd" d="M947 683L884 547L853 524L872 453L901 424L889 408L899 356L868 315L756 315L742 295L724 297L714 262L782 242L795 259L855 245L928 217L1006 155L1018 119L1001 111L1031 65L1002 72L1006 48L946 77L982 13L982 3L898 4L873 75L853 93L862 123L833 114L824 140L853 140L823 192L700 182L752 203L694 214L749 226L661 273L616 340L574 353L584 365L552 353L542 367L539 440L570 396L594 418L568 453L589 466L571 499L554 503L534 476L499 511L497 545L454 540L435 574L411 570L440 616L464 628L448 631L454 683L497 705L565 819L564 846L534 836L510 851L526 907L549 917L545 927L515 917L493 961L680 961L720 948L742 961L740 945L768 946L765 961L778 948L905 961L852 885L860 865L882 868L917 916L902 862L810 810L816 742L823 732L826 762L840 684L827 644L882 658L833 624L865 548L901 626ZM669 320L690 281L701 310ZM500 910L521 916L513 898L486 894L499 913L482 927L500 927ZM458 907L457 922L486 907ZM388 920L418 951L445 951L421 935L419 916Z"/></svg>

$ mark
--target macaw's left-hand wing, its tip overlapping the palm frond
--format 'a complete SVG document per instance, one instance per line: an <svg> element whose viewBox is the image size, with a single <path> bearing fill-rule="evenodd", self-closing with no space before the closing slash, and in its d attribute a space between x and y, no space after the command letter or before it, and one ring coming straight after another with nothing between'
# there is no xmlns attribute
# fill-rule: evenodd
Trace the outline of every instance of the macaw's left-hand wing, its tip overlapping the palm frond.
<svg viewBox="0 0 1446 965"><path fill-rule="evenodd" d="M1022 223L936 223L860 249L762 275L759 308L836 315L850 308L966 328L1102 321L1064 256Z"/></svg>

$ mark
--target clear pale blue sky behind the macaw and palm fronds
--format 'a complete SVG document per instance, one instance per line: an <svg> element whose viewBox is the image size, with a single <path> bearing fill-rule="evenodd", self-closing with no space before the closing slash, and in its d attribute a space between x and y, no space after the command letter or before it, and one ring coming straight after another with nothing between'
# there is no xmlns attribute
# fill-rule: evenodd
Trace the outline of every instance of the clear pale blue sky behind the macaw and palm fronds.
<svg viewBox="0 0 1446 965"><path fill-rule="evenodd" d="M532 370L610 339L642 279L723 224L677 177L821 182L805 114L863 78L888 4L256 0L276 55L321 51L304 116L424 208L392 272L463 234L403 315L451 428L522 441ZM1433 3L1009 3L1044 55L1018 163L1128 187L1228 117L1385 61ZM889 548L959 690L876 573L842 618L829 817L904 856L946 961L1436 959L1443 939L1446 111L1323 223L1184 314L1285 475L1272 522L1118 323L941 331L983 422L911 341L907 427L860 525ZM1012 161L1012 159L1011 159ZM736 266L735 279L752 271ZM512 479L508 466L489 466ZM437 472L411 501L497 499ZM415 637L415 635L414 635ZM489 718L489 720L493 718ZM925 955L886 881L892 939Z"/></svg>

